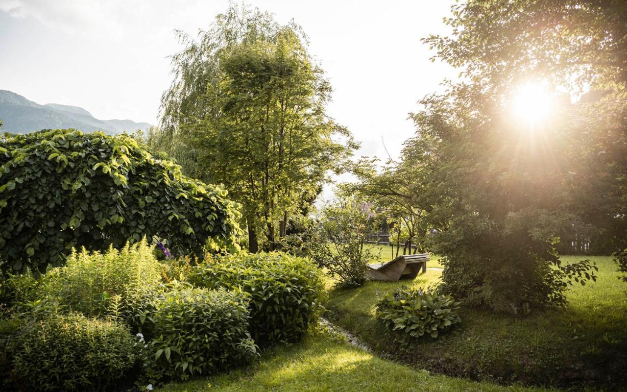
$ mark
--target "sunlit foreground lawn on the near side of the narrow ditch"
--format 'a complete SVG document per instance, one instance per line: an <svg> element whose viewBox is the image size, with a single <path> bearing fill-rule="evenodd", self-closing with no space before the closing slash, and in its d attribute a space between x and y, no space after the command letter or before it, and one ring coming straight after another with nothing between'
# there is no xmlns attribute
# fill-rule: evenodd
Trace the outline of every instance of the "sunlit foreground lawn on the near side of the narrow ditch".
<svg viewBox="0 0 627 392"><path fill-rule="evenodd" d="M538 391L431 375L376 358L327 336L310 336L263 354L258 363L213 378L172 383L160 391Z"/></svg>

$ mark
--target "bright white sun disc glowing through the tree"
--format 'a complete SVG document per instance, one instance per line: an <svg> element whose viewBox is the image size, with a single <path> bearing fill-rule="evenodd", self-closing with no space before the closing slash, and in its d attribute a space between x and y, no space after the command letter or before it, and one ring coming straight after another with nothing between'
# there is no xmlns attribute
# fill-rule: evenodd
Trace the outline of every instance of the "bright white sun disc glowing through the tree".
<svg viewBox="0 0 627 392"><path fill-rule="evenodd" d="M547 88L538 83L530 83L514 93L512 109L519 119L537 124L553 109L553 99Z"/></svg>

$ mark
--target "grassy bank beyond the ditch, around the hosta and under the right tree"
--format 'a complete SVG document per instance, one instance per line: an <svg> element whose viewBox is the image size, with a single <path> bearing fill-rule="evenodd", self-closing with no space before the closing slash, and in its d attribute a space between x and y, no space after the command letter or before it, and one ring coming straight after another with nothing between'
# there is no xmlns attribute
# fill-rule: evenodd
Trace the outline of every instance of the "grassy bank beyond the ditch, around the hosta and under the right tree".
<svg viewBox="0 0 627 392"><path fill-rule="evenodd" d="M436 283L440 271L428 270L413 282L370 282L359 289L334 290L327 307L339 326L359 334L379 354L432 371L502 382L591 382L614 388L627 374L627 284L617 279L611 258L592 259L599 267L597 282L569 290L567 307L524 318L463 309L455 331L410 349L395 347L374 319L377 292Z"/></svg>

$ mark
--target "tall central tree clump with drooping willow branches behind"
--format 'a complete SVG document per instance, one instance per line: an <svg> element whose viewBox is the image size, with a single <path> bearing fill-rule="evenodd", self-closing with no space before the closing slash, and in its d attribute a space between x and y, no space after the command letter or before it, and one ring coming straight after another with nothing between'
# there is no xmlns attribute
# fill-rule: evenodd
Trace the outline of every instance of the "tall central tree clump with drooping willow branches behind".
<svg viewBox="0 0 627 392"><path fill-rule="evenodd" d="M273 249L303 200L356 146L325 112L331 87L294 23L231 6L172 57L154 144L243 205L252 252ZM338 142L337 140L344 140Z"/></svg>

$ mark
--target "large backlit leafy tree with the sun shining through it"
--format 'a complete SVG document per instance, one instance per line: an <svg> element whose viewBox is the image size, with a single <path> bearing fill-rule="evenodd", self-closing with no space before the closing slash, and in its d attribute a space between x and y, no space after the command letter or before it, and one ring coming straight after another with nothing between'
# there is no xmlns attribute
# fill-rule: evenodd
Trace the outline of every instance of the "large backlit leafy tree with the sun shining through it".
<svg viewBox="0 0 627 392"><path fill-rule="evenodd" d="M415 184L429 198L420 205L441 231L431 250L446 256L458 298L523 313L563 304L569 278L585 283L594 267L564 269L558 235L591 228L603 247L627 246L624 4L473 0L452 11L451 36L425 41L463 82L421 101L406 145L427 179ZM512 121L512 91L526 83L555 98L538 124ZM603 94L558 97L589 89Z"/></svg>

